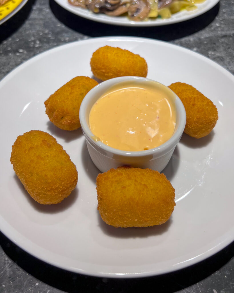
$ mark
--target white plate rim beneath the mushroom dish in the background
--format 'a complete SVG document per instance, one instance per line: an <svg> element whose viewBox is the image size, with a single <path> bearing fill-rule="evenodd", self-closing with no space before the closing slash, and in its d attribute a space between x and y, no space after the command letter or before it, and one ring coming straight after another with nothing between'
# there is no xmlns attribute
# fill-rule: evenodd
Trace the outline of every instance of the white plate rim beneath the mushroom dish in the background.
<svg viewBox="0 0 234 293"><path fill-rule="evenodd" d="M113 24L113 25L125 25L125 26L158 26L167 25L186 21L188 19L197 17L211 8L213 8L219 0L206 0L202 4L196 4L197 9L193 11L180 11L175 13L168 19L149 19L148 21L131 21L126 16L108 16L104 13L93 13L90 10L75 7L68 3L68 0L55 0L61 7L74 13L78 16L97 21L101 23Z"/></svg>

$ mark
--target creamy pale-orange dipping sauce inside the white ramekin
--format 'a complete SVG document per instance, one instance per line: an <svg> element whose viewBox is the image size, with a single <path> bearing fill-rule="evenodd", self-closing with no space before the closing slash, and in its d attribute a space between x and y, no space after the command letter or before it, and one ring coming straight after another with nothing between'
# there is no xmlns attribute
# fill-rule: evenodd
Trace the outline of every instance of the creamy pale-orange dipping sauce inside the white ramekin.
<svg viewBox="0 0 234 293"><path fill-rule="evenodd" d="M123 151L160 146L176 124L173 98L163 88L125 83L112 87L92 106L89 125L104 144Z"/></svg>

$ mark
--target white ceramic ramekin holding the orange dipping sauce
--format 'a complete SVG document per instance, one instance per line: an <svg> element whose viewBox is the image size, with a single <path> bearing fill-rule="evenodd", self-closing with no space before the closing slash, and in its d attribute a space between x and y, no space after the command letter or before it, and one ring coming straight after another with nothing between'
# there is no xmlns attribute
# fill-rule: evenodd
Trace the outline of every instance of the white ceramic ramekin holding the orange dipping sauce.
<svg viewBox="0 0 234 293"><path fill-rule="evenodd" d="M176 107L176 127L172 137L159 147L145 151L122 151L107 146L106 144L96 141L94 134L89 127L89 114L92 105L98 98L109 88L116 84L133 82L136 85L144 86L147 83L154 83L155 87L164 87L169 96L175 102ZM108 123L108 121L106 122ZM168 164L173 151L178 144L186 123L185 108L181 100L167 86L157 81L152 81L143 77L124 76L106 80L87 93L80 106L80 124L85 136L88 151L94 164L101 172L106 172L111 168L130 165L139 168L150 168L161 172Z"/></svg>

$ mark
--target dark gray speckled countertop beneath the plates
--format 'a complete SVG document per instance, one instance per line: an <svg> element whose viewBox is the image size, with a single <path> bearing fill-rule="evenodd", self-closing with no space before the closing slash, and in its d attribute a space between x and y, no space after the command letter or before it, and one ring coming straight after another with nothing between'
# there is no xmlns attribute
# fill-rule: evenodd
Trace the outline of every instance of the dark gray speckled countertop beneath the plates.
<svg viewBox="0 0 234 293"><path fill-rule="evenodd" d="M199 52L234 74L234 1L221 0L190 21L164 27L105 25L65 11L53 0L29 0L0 26L0 79L30 57L55 46L99 36L165 40ZM1 94L0 94L1 96ZM142 279L78 275L48 265L0 232L0 293L58 292L234 292L234 243L192 267Z"/></svg>

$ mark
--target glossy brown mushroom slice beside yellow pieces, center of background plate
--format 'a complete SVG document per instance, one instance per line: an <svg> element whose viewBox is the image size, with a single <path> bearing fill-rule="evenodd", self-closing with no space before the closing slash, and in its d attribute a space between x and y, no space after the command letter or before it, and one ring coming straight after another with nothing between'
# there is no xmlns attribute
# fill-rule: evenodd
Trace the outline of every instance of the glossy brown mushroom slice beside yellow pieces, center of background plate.
<svg viewBox="0 0 234 293"><path fill-rule="evenodd" d="M133 0L128 8L128 16L131 20L138 21L147 18L150 4L147 0Z"/></svg>

